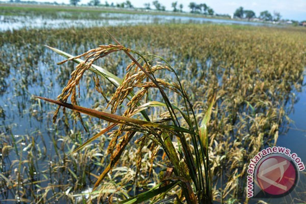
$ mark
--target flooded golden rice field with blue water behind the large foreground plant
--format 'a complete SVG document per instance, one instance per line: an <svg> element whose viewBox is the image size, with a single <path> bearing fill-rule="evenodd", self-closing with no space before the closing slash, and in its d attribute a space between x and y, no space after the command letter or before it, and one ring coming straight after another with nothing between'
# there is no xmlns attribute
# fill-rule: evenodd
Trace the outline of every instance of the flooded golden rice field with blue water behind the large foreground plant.
<svg viewBox="0 0 306 204"><path fill-rule="evenodd" d="M6 18L1 17L1 21L9 21ZM143 18L146 21L146 16ZM152 147L150 141L143 144L140 163L139 144L129 144L100 187L88 194L110 162L106 149L112 138L105 133L83 150L69 154L106 128L107 122L81 115L81 124L67 109L59 111L53 124L57 107L34 95L56 99L76 66L71 61L57 65L65 58L44 45L76 56L114 41L103 28L58 28L48 27L48 23L45 27L47 21L38 20L34 28L1 27L6 31L0 36L0 201L107 203L147 191L159 183L160 170L170 165L162 149ZM172 17L163 23L168 22L172 22ZM157 54L170 62L198 121L202 121L208 108L208 99L216 96L208 128L214 202L257 203L258 199L245 198L246 167L264 147L290 148L306 162L305 29L212 24L109 25L109 31L124 46L142 54ZM123 78L130 62L124 52L116 52L95 65ZM169 83L174 80L168 72L156 77ZM103 96L96 86L97 79ZM113 84L87 70L80 80L78 104L110 112L106 105L115 90ZM166 93L177 107L183 106L180 98L170 95L170 91ZM162 101L154 91L148 97L147 100ZM118 106L116 114L124 114L125 106L126 103ZM163 112L158 108L146 110L152 121ZM193 149L191 139L187 142ZM294 192L274 198L273 202L305 201L305 181L305 173L301 172Z"/></svg>

